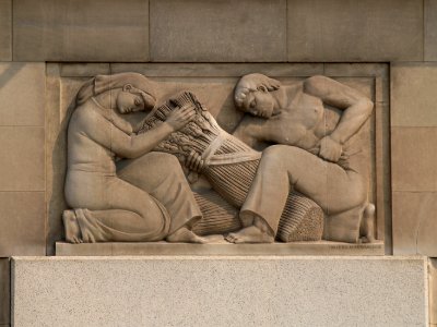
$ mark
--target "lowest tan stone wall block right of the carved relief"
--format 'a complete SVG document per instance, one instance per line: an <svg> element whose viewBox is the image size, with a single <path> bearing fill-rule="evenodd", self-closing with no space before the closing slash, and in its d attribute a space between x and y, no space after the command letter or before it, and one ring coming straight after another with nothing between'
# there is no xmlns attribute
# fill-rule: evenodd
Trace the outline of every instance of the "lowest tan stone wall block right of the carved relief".
<svg viewBox="0 0 437 327"><path fill-rule="evenodd" d="M437 256L437 193L393 192L393 254ZM433 249L434 247L434 249Z"/></svg>

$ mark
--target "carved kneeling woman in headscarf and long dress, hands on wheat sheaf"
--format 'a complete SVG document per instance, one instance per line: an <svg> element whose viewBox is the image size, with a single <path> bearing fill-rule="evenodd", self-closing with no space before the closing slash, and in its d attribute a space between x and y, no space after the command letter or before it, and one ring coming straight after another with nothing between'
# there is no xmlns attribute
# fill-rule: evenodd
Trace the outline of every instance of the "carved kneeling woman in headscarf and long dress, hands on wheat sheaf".
<svg viewBox="0 0 437 327"><path fill-rule="evenodd" d="M73 209L63 213L67 241L204 242L191 231L201 213L180 164L152 152L192 119L193 108L176 110L140 135L122 119L152 111L156 94L156 85L135 73L96 76L78 93L68 128L64 192ZM135 159L117 173L117 157ZM130 179L139 169L141 180Z"/></svg>

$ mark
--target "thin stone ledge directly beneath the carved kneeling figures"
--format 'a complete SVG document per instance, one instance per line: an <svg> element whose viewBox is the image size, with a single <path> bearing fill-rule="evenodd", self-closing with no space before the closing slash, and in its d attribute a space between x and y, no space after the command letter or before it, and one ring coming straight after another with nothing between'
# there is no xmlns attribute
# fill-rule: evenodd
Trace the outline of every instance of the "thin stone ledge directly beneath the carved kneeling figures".
<svg viewBox="0 0 437 327"><path fill-rule="evenodd" d="M56 243L57 256L126 255L383 255L383 242L349 244L340 242L293 242L274 244L188 243Z"/></svg>

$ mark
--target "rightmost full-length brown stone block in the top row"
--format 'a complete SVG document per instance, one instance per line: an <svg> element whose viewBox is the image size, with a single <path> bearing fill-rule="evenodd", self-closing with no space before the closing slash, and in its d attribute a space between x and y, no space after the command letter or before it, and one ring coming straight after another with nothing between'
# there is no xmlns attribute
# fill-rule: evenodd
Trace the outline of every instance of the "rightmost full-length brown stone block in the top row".
<svg viewBox="0 0 437 327"><path fill-rule="evenodd" d="M423 60L423 1L288 0L288 61Z"/></svg>

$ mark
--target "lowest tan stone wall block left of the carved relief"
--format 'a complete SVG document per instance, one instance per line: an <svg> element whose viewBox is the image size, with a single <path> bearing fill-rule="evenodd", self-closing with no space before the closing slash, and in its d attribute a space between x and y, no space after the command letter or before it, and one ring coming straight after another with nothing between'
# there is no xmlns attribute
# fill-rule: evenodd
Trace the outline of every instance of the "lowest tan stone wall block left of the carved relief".
<svg viewBox="0 0 437 327"><path fill-rule="evenodd" d="M44 192L0 192L0 256L45 255Z"/></svg>

